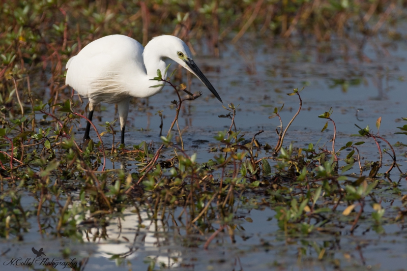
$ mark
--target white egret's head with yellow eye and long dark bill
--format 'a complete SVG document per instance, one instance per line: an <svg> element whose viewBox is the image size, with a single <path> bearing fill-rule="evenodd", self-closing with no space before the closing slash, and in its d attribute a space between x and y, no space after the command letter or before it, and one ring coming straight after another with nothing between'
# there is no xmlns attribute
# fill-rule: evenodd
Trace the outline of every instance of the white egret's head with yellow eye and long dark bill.
<svg viewBox="0 0 407 271"><path fill-rule="evenodd" d="M203 75L203 73L199 70L198 66L196 66L192 59L192 53L185 42L175 36L160 36L160 38L163 39L160 42L162 42L162 45L165 47L165 49L163 48L164 56L171 58L173 61L177 62L182 67L193 73L209 88L213 95L215 95L215 97L222 102L219 94L216 92L216 89L213 87L211 82L209 82L205 75Z"/></svg>

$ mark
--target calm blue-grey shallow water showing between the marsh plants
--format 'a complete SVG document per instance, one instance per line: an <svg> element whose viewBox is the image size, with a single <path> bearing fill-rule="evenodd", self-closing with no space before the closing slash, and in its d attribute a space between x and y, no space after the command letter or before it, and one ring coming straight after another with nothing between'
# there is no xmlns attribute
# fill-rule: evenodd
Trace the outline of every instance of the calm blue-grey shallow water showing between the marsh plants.
<svg viewBox="0 0 407 271"><path fill-rule="evenodd" d="M196 47L201 52L199 55L205 54L205 49ZM362 128L369 125L375 131L375 122L380 116L381 135L393 144L406 141L405 135L394 134L398 131L396 127L404 125L400 117L407 116L404 82L407 46L403 41L364 40L358 36L325 44L303 40L256 40L253 43L248 39L239 46L224 45L222 51L220 59L200 56L195 62L215 86L224 105L239 104L236 125L246 134L246 139L264 129L265 132L256 138L262 145L273 146L279 123L277 118L268 117L275 106L284 103L281 115L285 126L299 104L296 96L285 93L306 86L301 92L303 109L288 130L284 145L293 142L296 147L305 147L322 138L319 144L326 143L330 149L332 124L321 132L325 120L317 117L330 107L334 110L332 118L338 131L337 149L347 141L366 141L360 147L361 156L364 160L377 160L377 148L371 139L350 135L359 130L354 124ZM187 153L197 153L198 161L206 162L214 156L209 152L210 148L217 145L213 136L217 131L227 130L230 119L218 117L227 112L196 78L192 80L191 91L202 91L203 95L195 101L185 102L179 124L181 129L187 127L183 133ZM141 141L153 141L156 147L160 144L160 117L155 113L164 110L163 134L166 134L175 115L175 108L170 106L173 99L176 99L175 93L165 87L162 93L148 101L137 101L138 104L148 103L148 106L131 107L126 129L128 148ZM101 124L112 121L113 106L102 105L101 108L102 111L95 112L94 116L101 117ZM83 126L84 122L81 124ZM78 131L77 138L82 133ZM174 133L178 134L176 130ZM96 135L91 132L91 137L96 138ZM104 138L105 146L111 146L112 138ZM401 170L406 171L405 148L395 150ZM346 154L343 151L340 158ZM261 155L268 156L264 150ZM384 155L384 164L390 161L390 157ZM106 166L108 169L125 168L128 172L136 168L134 161L108 161ZM386 166L380 172L385 170ZM358 173L359 169L355 167L353 171ZM392 180L398 182L398 176L393 170ZM407 192L404 178L398 188L402 194ZM396 212L391 200L396 199L394 206L399 205L399 197L386 192L385 188L381 193L379 198L383 200L386 212ZM261 197L254 193L251 196ZM23 205L31 203L26 200ZM152 270L148 269L150 262L154 269L164 268L165 264L180 270L403 270L407 266L407 232L403 223L383 225L382 234L374 231L372 223L361 223L351 234L351 225L344 220L339 222L340 227L324 227L309 236L287 237L279 230L275 212L270 207L251 204L250 200L241 204L233 222L236 226L234 237L226 231L221 232L209 250L202 248L209 236L186 232L182 220L168 216L164 223L151 220L147 210L141 210L142 223L139 224L138 216L131 208L127 209L120 224L118 219L113 219L106 227L98 228L100 232L106 232L107 237L94 240L92 234L97 228L81 228L78 239L40 236L37 219L32 218L30 231L23 234L23 242L12 237L0 240L0 264L3 265L0 269L15 270L15 266L4 263L16 257L33 257L32 247L44 248L50 259L64 258L63 251L69 251L70 258L83 262L83 270ZM338 208L337 212L342 210ZM175 218L181 212L182 209L175 210ZM188 218L184 216L183 219L185 222ZM89 239L84 234L86 229ZM322 261L318 260L321 253L325 255ZM117 254L121 257L110 259Z"/></svg>

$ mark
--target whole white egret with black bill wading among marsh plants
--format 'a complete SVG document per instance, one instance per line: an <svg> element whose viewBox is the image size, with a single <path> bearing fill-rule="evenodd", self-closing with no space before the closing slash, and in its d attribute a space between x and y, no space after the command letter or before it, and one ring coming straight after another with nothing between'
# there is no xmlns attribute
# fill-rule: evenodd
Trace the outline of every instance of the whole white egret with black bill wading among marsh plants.
<svg viewBox="0 0 407 271"><path fill-rule="evenodd" d="M152 81L157 70L165 71L164 58L170 58L193 73L205 84L220 102L218 93L192 60L188 46L174 36L153 38L146 48L136 40L123 35L110 35L86 45L69 59L66 68L66 84L81 96L89 98L89 115L92 121L97 103L117 103L121 143L130 108L130 97L147 98L156 95L163 86ZM166 78L166 74L163 74ZM86 125L83 140L90 139L91 125Z"/></svg>

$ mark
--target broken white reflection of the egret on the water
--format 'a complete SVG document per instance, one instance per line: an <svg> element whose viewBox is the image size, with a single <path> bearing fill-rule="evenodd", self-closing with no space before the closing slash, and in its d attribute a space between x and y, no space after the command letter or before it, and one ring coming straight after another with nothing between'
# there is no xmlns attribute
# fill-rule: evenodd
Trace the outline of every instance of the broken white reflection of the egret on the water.
<svg viewBox="0 0 407 271"><path fill-rule="evenodd" d="M131 260L152 252L146 258L157 266L177 267L182 261L181 252L161 248L170 245L161 234L165 228L161 220L151 220L147 212L138 216L135 209L126 209L123 218L112 219L107 226L84 229L82 238L97 244L96 257Z"/></svg>

